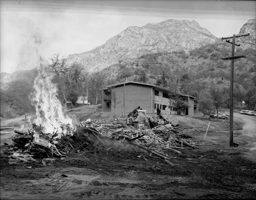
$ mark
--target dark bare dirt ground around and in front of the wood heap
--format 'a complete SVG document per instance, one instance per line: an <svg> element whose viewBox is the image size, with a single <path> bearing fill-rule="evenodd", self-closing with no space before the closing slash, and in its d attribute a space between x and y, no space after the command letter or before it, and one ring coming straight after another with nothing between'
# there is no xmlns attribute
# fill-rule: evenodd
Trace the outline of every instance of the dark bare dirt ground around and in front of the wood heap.
<svg viewBox="0 0 256 200"><path fill-rule="evenodd" d="M103 115L93 113L90 117ZM138 152L113 149L80 156L71 152L45 167L10 165L3 143L11 143L13 132L2 131L1 199L255 199L256 136L252 130L256 117L234 116L234 141L239 146L232 148L228 120L212 120L205 137L209 121L172 118L189 128L184 132L198 147L179 149L180 154L165 151L173 166L149 154L140 157Z"/></svg>

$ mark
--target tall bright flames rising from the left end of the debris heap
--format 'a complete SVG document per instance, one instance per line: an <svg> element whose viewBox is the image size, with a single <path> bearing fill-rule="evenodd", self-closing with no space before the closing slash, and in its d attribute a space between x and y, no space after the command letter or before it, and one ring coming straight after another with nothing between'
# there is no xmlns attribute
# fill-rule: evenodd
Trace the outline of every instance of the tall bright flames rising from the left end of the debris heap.
<svg viewBox="0 0 256 200"><path fill-rule="evenodd" d="M41 39L34 37L36 44L36 53L38 53L38 45ZM34 124L41 127L41 131L45 134L69 134L69 130L73 130L72 120L63 114L62 105L57 98L57 85L52 82L53 74L50 73L40 56L38 56L37 77L34 80L34 92L30 95L32 105L36 109L36 119ZM72 133L71 133L72 135Z"/></svg>

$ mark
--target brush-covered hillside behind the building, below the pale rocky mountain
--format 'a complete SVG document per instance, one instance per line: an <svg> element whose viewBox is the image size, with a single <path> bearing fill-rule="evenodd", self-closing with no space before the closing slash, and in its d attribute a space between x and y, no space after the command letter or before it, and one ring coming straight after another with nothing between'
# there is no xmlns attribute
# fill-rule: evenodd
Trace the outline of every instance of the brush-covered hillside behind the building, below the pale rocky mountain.
<svg viewBox="0 0 256 200"><path fill-rule="evenodd" d="M196 81L214 81L228 86L230 83L230 61L221 60L231 54L230 44L216 42L203 46L189 53L178 51L166 54L147 54L137 59L127 59L102 70L106 81L110 83L126 80L156 84L161 77L167 80L181 81L186 77L187 84ZM236 48L236 55L246 55L246 58L236 60L234 64L234 82L241 84L245 89L252 82L248 78L256 75L256 52L253 49L243 50ZM256 77L256 76L255 76ZM113 82L115 80L115 82ZM252 79L251 79L252 80ZM201 90L202 88L199 88ZM195 90L181 91L187 95L197 96Z"/></svg>

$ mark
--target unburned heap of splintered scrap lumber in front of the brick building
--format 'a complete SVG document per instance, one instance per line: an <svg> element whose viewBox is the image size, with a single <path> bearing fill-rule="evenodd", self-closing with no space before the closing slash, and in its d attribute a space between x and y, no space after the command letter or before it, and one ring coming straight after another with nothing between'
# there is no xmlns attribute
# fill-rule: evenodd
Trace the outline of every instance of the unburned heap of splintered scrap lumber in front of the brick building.
<svg viewBox="0 0 256 200"><path fill-rule="evenodd" d="M172 124L163 124L156 126L153 129L138 129L127 126L118 119L112 121L100 120L84 120L80 123L82 127L93 127L99 134L113 138L119 142L130 141L140 147L146 147L152 150L172 150L177 153L180 151L177 148L196 148L189 141L191 138L183 134L178 126Z"/></svg>

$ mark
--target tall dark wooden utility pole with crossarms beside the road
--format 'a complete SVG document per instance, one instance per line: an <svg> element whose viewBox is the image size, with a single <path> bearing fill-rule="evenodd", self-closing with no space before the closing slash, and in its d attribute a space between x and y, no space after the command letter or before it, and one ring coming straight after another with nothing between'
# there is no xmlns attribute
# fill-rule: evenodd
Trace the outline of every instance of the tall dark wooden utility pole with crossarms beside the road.
<svg viewBox="0 0 256 200"><path fill-rule="evenodd" d="M234 82L234 59L237 58L245 58L245 56L234 56L234 47L240 46L236 44L236 37L244 37L249 36L250 34L247 33L245 35L235 35L233 34L232 37L222 37L223 39L229 39L232 38L232 42L230 40L226 40L226 42L232 44L232 53L231 57L221 58L222 60L231 60L231 69L230 69L230 100L229 100L229 146L233 147L233 82Z"/></svg>

